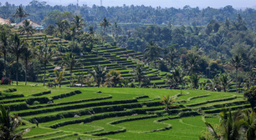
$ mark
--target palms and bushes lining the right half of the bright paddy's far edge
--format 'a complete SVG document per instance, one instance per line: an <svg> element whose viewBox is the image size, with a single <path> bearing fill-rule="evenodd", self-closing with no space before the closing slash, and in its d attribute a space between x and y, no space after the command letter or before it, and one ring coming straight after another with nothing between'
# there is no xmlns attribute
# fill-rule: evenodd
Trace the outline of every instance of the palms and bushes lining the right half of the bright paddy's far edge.
<svg viewBox="0 0 256 140"><path fill-rule="evenodd" d="M248 89L250 86L254 85L255 78L250 80L250 72L248 72L248 77L243 79L238 79L238 68L242 68L244 65L242 57L236 55L231 58L230 62L227 64L235 68L235 77L230 77L228 72L220 72L216 74L212 79L206 80L200 84L199 79L204 77L201 72L197 71L200 67L200 61L197 60L197 56L193 53L187 55L187 61L181 63L182 67L174 67L172 74L167 74L166 84L171 85L174 88L193 88L211 91L223 91L227 92L228 87L232 82L236 82L236 92L238 92L238 87L243 83L244 89ZM255 73L254 69L252 72ZM239 80L239 81L238 81ZM249 85L249 86L248 86Z"/></svg>

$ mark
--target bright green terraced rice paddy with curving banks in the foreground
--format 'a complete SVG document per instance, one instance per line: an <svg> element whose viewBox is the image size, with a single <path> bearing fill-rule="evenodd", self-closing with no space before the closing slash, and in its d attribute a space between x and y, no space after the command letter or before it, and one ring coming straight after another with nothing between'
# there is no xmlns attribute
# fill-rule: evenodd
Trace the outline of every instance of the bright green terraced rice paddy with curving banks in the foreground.
<svg viewBox="0 0 256 140"><path fill-rule="evenodd" d="M243 94L202 90L113 87L0 86L0 102L33 127L33 139L198 139L204 121L218 123L223 105L248 108ZM100 91L100 93L99 93ZM162 95L176 102L169 111ZM35 121L39 122L36 128Z"/></svg>

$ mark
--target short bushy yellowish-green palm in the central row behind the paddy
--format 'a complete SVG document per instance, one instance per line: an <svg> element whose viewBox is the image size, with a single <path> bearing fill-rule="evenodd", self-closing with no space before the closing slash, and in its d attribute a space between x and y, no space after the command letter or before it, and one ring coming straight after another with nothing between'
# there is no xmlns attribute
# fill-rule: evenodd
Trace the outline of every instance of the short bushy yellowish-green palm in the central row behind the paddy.
<svg viewBox="0 0 256 140"><path fill-rule="evenodd" d="M116 87L117 83L120 83L123 77L121 77L120 71L113 70L111 69L107 74L106 74L106 84L110 85L113 84L114 87Z"/></svg>

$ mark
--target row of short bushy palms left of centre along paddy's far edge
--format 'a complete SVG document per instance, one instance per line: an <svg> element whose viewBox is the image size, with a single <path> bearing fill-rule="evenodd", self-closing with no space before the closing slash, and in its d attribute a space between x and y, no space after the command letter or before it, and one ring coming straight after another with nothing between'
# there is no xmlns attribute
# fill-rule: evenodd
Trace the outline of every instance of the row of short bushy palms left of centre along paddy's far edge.
<svg viewBox="0 0 256 140"><path fill-rule="evenodd" d="M70 53L68 53L70 55ZM67 61L63 59L61 64L66 63ZM72 62L69 62L72 63ZM79 60L76 61L76 65L74 66L81 66ZM64 65L62 65L64 66ZM72 68L69 67L70 71ZM64 71L63 71L64 72ZM107 70L107 67L101 67L100 65L96 65L92 67L91 71L88 71L88 74L84 76L84 73L80 73L79 76L75 77L77 79L77 83L80 86L87 85L90 87L91 85L97 87L149 87L150 86L150 79L146 77L146 68L143 67L142 64L138 64L134 69L130 72L132 77L131 78L123 78L121 77L120 71L115 69ZM70 72L70 86L71 85L71 72ZM60 79L60 82L64 79L63 75L60 75L59 72L55 71L54 79ZM134 82L139 82L138 86L135 85ZM60 84L59 82L59 84Z"/></svg>

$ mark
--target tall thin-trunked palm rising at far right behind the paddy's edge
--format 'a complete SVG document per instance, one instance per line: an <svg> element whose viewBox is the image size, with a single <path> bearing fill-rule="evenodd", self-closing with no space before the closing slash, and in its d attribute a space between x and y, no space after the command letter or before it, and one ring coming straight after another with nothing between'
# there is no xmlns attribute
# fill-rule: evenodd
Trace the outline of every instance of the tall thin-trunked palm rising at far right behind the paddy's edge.
<svg viewBox="0 0 256 140"><path fill-rule="evenodd" d="M236 68L236 92L238 92L238 68L243 67L242 57L235 55L231 58L229 64Z"/></svg>

